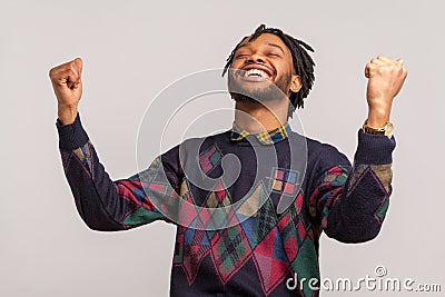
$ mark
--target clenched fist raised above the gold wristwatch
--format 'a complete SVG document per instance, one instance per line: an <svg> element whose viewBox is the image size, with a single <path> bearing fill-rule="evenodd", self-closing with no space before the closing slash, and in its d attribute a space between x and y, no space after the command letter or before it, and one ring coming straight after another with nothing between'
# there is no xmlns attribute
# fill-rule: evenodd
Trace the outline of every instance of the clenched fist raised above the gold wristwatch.
<svg viewBox="0 0 445 297"><path fill-rule="evenodd" d="M369 106L368 125L384 127L389 121L390 108L407 76L403 60L383 56L370 60L365 67L368 78L367 101Z"/></svg>

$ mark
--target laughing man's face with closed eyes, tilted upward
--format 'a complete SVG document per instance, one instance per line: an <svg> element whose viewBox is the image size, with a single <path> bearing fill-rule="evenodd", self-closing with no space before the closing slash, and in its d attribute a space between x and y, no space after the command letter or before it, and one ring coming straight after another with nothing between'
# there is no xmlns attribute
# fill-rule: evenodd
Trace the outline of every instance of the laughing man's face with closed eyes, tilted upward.
<svg viewBox="0 0 445 297"><path fill-rule="evenodd" d="M228 88L235 100L267 101L290 96L297 76L289 49L270 33L248 41L246 38L234 55ZM299 81L299 78L298 78Z"/></svg>

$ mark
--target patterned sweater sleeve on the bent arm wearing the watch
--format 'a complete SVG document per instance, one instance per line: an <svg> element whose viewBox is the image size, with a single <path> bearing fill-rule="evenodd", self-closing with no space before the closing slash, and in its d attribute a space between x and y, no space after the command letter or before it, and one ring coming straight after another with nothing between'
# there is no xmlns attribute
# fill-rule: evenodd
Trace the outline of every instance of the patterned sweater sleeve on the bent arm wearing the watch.
<svg viewBox="0 0 445 297"><path fill-rule="evenodd" d="M327 236L343 242L375 238L392 194L392 152L395 139L358 131L354 165L332 146L318 161L309 212Z"/></svg>

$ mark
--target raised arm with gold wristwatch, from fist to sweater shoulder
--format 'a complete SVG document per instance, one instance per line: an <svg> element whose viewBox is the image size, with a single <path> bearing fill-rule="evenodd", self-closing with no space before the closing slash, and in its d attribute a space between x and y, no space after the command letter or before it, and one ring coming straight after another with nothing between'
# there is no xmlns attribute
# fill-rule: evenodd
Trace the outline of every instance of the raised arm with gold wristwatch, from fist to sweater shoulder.
<svg viewBox="0 0 445 297"><path fill-rule="evenodd" d="M369 109L358 133L354 165L350 167L343 155L326 147L320 155L325 157L320 157L309 202L320 229L344 242L375 238L386 216L395 148L389 115L407 71L400 59L379 56L366 66L365 76ZM337 157L327 160L326 156Z"/></svg>

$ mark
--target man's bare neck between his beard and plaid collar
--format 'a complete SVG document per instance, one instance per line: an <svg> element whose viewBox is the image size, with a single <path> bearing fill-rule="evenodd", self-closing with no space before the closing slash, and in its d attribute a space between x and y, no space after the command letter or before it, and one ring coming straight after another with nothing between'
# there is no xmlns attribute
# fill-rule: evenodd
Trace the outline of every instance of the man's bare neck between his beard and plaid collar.
<svg viewBox="0 0 445 297"><path fill-rule="evenodd" d="M274 130L287 121L288 100L244 102L235 105L236 125L249 133Z"/></svg>

